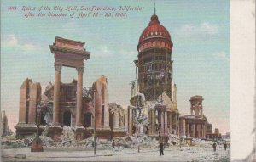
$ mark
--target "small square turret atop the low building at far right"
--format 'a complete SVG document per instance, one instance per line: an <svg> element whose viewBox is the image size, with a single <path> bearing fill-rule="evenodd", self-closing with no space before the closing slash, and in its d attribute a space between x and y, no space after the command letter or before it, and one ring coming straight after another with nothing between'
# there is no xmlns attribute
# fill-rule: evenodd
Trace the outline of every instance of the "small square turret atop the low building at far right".
<svg viewBox="0 0 256 162"><path fill-rule="evenodd" d="M203 115L203 107L202 101L204 98L202 96L192 96L190 98L190 112L191 115L202 116Z"/></svg>

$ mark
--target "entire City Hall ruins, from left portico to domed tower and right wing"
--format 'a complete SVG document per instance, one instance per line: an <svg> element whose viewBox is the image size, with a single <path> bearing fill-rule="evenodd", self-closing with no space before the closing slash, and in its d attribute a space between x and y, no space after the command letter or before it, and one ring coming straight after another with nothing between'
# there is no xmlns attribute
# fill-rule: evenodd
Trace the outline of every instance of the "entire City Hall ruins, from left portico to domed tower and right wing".
<svg viewBox="0 0 256 162"><path fill-rule="evenodd" d="M17 137L47 131L52 139L61 137L69 126L78 140L93 137L144 136L212 139L221 137L218 129L203 114L203 98L195 95L190 101L190 115L181 115L177 103L177 85L173 79L173 42L169 31L160 25L158 16L151 16L137 45L136 78L131 82L128 108L108 102L107 76L99 76L91 87L83 87L84 62L90 59L84 42L55 37L49 45L55 58L55 81L42 92L39 82L26 79L20 87ZM93 61L93 60L90 60ZM133 64L133 63L131 63ZM61 68L75 68L77 79L61 82ZM89 76L88 76L89 77ZM187 102L189 102L187 101ZM207 108L206 108L207 109Z"/></svg>

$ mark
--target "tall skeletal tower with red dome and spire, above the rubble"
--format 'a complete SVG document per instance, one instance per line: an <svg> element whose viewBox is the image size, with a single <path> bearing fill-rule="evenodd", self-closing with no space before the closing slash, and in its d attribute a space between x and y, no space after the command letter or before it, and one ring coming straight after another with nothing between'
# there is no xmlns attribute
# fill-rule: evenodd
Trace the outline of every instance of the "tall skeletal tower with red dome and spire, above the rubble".
<svg viewBox="0 0 256 162"><path fill-rule="evenodd" d="M142 32L137 45L137 84L146 100L154 100L163 92L172 98L172 40L154 14Z"/></svg>

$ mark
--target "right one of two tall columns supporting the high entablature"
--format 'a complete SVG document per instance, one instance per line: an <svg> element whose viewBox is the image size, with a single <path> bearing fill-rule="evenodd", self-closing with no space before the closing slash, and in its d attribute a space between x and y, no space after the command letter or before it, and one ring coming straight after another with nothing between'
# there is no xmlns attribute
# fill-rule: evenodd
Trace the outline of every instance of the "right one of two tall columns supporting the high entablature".
<svg viewBox="0 0 256 162"><path fill-rule="evenodd" d="M83 126L82 124L82 102L83 102L83 73L84 67L77 68L77 112L76 112L76 126Z"/></svg>

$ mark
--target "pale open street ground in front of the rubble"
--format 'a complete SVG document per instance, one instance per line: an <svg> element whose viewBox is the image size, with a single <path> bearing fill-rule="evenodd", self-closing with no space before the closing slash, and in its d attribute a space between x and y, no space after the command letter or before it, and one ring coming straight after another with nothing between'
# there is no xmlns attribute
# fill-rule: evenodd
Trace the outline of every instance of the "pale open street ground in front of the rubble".
<svg viewBox="0 0 256 162"><path fill-rule="evenodd" d="M98 148L94 155L93 148L84 147L44 147L44 152L32 153L30 148L2 149L2 161L171 161L171 162L211 162L230 161L230 148L224 150L218 145L214 153L209 143L192 147L171 146L160 156L159 148ZM26 154L25 159L19 157ZM16 157L15 157L16 156Z"/></svg>

